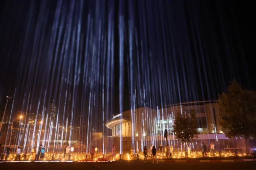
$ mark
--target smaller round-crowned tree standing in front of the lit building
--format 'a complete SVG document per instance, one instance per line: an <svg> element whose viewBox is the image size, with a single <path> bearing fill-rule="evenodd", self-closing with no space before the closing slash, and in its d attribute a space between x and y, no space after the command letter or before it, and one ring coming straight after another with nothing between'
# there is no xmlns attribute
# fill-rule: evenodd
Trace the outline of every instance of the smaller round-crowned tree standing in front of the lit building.
<svg viewBox="0 0 256 170"><path fill-rule="evenodd" d="M198 138L196 113L194 111L190 114L177 113L172 132L182 143L192 142Z"/></svg>

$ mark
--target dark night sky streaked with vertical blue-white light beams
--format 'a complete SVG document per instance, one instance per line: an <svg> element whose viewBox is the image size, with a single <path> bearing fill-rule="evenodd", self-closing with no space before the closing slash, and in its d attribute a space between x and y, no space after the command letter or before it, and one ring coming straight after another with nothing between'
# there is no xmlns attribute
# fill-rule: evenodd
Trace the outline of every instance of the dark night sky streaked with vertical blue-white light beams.
<svg viewBox="0 0 256 170"><path fill-rule="evenodd" d="M215 100L232 79L256 87L250 1L0 3L1 114L14 93L14 110L53 102L69 117L91 109L97 122L134 99L132 107L156 108Z"/></svg>

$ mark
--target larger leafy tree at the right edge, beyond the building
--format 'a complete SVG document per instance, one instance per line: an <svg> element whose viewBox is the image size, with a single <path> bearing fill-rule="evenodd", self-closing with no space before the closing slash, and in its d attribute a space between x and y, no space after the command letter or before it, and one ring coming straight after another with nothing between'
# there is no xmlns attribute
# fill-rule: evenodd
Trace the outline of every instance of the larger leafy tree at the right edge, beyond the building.
<svg viewBox="0 0 256 170"><path fill-rule="evenodd" d="M253 91L243 90L236 82L230 82L227 93L218 96L220 105L220 126L228 138L255 136L256 132L256 95Z"/></svg>

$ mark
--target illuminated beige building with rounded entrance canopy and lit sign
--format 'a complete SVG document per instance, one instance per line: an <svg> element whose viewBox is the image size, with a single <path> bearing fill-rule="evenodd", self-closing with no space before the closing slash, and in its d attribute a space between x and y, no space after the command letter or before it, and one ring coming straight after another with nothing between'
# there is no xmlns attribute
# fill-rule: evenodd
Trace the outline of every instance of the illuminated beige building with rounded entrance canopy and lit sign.
<svg viewBox="0 0 256 170"><path fill-rule="evenodd" d="M170 105L165 108L151 109L148 107L125 111L112 118L106 123L106 127L112 129L113 138L122 136L124 148L131 146L142 148L143 145L156 144L156 146L166 144L164 130L168 131L168 143L178 148L180 142L175 138L173 130L174 117L177 113L196 113L198 124L198 139L192 143L198 149L202 142L218 142L228 140L219 126L220 108L216 101L198 101ZM197 144L198 143L198 144ZM221 146L226 143L222 142ZM218 146L218 145L216 145Z"/></svg>

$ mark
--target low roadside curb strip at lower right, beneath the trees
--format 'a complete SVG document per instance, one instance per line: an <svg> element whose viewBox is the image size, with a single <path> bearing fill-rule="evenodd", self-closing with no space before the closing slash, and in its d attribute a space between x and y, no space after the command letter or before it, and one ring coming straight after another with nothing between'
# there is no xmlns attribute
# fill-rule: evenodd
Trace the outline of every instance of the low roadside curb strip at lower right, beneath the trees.
<svg viewBox="0 0 256 170"><path fill-rule="evenodd" d="M256 161L256 159L229 159L229 160L164 160L164 162L248 162Z"/></svg>

